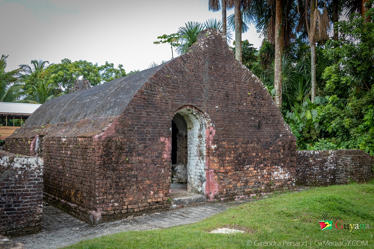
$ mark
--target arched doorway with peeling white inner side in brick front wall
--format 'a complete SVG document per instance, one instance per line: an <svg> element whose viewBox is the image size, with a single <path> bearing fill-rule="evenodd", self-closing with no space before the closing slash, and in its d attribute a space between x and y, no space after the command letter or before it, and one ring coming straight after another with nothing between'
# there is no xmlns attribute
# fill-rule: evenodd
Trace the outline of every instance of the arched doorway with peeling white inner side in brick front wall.
<svg viewBox="0 0 374 249"><path fill-rule="evenodd" d="M171 125L171 193L205 194L205 123L197 111L182 109ZM174 191L173 191L174 190Z"/></svg>

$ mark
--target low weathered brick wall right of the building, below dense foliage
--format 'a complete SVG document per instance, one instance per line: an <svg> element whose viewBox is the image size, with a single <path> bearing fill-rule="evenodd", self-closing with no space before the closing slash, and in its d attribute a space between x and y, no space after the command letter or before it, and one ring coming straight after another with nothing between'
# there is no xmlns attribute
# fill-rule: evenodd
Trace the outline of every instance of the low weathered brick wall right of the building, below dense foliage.
<svg viewBox="0 0 374 249"><path fill-rule="evenodd" d="M374 178L374 156L363 150L297 151L296 184L327 186Z"/></svg>

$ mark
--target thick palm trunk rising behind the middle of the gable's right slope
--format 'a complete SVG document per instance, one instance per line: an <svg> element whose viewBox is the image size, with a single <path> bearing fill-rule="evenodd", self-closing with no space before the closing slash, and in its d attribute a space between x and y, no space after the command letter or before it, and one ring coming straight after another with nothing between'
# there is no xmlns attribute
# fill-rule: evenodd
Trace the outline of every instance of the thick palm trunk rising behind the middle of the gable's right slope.
<svg viewBox="0 0 374 249"><path fill-rule="evenodd" d="M283 29L282 29L282 0L275 3L275 60L274 60L274 88L276 95L275 104L282 105L282 53L283 53Z"/></svg>

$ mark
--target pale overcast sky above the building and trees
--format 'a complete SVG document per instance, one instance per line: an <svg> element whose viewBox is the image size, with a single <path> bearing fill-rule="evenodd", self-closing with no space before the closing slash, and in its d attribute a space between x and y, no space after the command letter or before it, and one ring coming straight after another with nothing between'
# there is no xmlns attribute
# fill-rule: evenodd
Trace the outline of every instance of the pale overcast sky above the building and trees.
<svg viewBox="0 0 374 249"><path fill-rule="evenodd" d="M171 59L168 44L153 44L157 36L210 18L222 16L208 11L206 0L0 0L0 53L9 55L7 71L33 59L64 58L144 70ZM258 48L259 36L251 26L242 40Z"/></svg>

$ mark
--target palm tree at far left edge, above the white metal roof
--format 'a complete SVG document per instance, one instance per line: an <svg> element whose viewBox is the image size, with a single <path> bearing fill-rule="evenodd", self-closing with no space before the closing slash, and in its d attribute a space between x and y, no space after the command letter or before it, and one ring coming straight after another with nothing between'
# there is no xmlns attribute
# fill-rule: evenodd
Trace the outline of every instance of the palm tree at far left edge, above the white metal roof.
<svg viewBox="0 0 374 249"><path fill-rule="evenodd" d="M0 59L0 102L13 102L19 98L19 92L24 84L21 77L22 68L6 72L6 58L9 55L1 55Z"/></svg>

